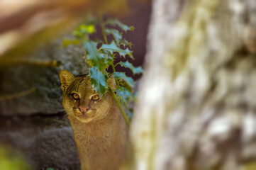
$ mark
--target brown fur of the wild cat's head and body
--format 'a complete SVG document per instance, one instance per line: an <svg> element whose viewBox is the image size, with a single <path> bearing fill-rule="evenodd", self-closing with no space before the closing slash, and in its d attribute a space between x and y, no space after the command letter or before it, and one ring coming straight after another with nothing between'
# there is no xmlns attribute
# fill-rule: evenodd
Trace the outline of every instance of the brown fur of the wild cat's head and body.
<svg viewBox="0 0 256 170"><path fill-rule="evenodd" d="M73 77L66 70L60 72L62 104L74 132L82 170L119 169L126 156L128 129L115 101L109 93L92 101L96 92L89 77ZM72 94L79 94L74 100ZM84 115L78 107L89 107Z"/></svg>

